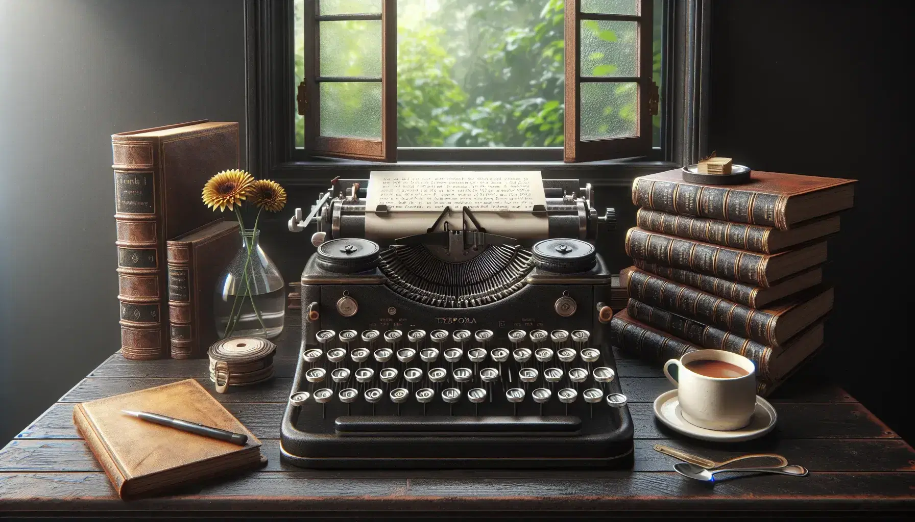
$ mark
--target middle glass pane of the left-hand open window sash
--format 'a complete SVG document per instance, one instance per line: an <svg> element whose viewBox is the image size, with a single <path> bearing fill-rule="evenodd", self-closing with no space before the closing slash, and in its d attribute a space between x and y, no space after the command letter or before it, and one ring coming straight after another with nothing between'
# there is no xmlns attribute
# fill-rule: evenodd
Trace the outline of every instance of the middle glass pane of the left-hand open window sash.
<svg viewBox="0 0 915 522"><path fill-rule="evenodd" d="M382 21L321 22L320 76L382 77Z"/></svg>

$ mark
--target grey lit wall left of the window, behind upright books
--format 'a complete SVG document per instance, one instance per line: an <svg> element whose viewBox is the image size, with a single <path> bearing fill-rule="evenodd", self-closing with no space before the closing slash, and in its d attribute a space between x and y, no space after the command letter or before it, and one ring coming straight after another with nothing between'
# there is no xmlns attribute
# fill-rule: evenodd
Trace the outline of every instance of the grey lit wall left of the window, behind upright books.
<svg viewBox="0 0 915 522"><path fill-rule="evenodd" d="M204 118L244 127L242 0L0 0L0 443L119 346L111 134Z"/></svg>

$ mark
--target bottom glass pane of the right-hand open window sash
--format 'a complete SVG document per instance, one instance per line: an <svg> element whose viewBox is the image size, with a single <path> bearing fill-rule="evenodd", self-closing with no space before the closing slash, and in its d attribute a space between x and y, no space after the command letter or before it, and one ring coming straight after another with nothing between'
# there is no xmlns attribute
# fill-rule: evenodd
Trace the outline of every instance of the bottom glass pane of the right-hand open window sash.
<svg viewBox="0 0 915 522"><path fill-rule="evenodd" d="M637 135L636 83L581 84L581 139L628 138Z"/></svg>

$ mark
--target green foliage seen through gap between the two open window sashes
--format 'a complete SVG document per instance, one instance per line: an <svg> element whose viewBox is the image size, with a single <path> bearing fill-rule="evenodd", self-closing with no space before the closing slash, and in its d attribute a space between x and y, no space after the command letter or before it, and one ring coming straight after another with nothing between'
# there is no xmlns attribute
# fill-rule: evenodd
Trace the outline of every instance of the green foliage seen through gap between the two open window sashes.
<svg viewBox="0 0 915 522"><path fill-rule="evenodd" d="M564 5L398 0L398 144L562 146Z"/></svg>

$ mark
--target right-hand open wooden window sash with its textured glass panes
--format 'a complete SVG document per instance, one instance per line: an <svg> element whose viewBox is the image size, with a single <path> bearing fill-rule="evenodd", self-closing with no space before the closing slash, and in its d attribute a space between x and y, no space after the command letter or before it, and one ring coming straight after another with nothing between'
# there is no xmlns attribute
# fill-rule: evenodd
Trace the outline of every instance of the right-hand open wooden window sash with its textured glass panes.
<svg viewBox="0 0 915 522"><path fill-rule="evenodd" d="M565 162L651 151L651 6L565 0Z"/></svg>

